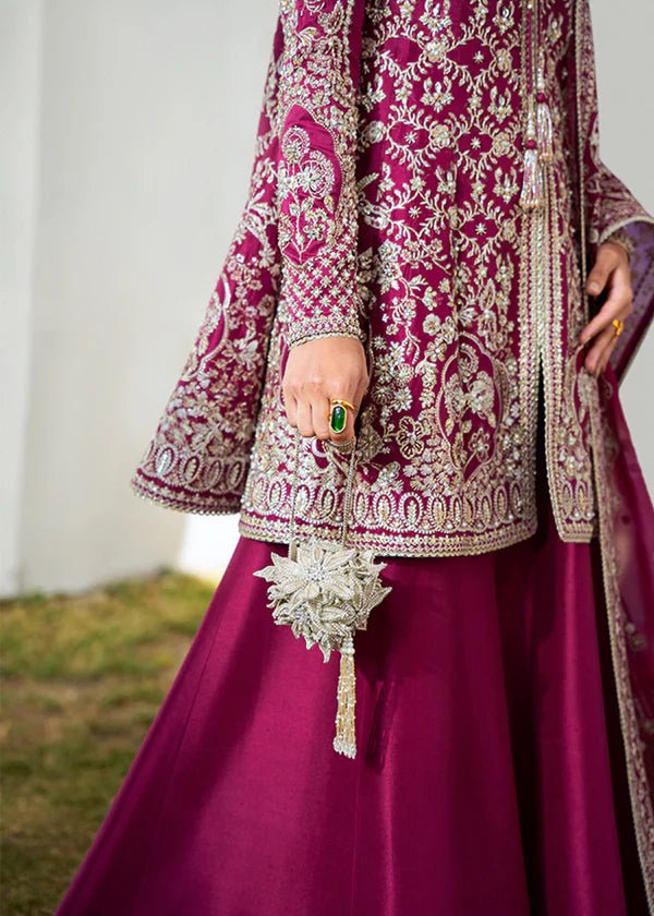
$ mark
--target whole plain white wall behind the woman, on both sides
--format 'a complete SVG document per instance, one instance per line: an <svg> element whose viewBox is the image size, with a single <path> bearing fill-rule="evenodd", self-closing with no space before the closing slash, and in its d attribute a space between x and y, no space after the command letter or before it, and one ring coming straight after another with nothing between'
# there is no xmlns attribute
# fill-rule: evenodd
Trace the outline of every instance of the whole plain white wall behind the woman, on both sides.
<svg viewBox="0 0 654 916"><path fill-rule="evenodd" d="M604 158L654 210L654 9L593 11ZM230 555L237 516L171 513L128 482L245 200L276 15L275 0L0 0L0 593ZM650 480L653 351L622 389Z"/></svg>

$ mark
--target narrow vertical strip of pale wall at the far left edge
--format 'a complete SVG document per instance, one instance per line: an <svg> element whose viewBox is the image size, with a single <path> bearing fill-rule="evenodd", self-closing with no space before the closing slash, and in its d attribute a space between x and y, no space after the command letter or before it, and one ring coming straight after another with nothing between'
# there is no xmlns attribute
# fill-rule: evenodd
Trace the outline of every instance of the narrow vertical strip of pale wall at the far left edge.
<svg viewBox="0 0 654 916"><path fill-rule="evenodd" d="M0 3L0 589L10 594L23 562L41 14L40 0Z"/></svg>

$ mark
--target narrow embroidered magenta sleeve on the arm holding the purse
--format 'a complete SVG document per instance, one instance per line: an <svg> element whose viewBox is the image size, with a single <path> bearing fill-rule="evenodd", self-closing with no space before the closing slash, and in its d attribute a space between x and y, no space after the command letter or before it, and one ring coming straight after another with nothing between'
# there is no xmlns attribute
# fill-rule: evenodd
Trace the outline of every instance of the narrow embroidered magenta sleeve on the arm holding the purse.
<svg viewBox="0 0 654 916"><path fill-rule="evenodd" d="M355 150L364 0L282 0L278 96L279 313L289 347L364 341Z"/></svg>

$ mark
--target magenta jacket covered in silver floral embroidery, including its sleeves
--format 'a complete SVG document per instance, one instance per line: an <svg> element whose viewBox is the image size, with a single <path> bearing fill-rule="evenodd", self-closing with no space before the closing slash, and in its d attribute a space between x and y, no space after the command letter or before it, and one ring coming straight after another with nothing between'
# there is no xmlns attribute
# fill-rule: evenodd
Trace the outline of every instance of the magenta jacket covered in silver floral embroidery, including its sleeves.
<svg viewBox="0 0 654 916"><path fill-rule="evenodd" d="M247 202L133 486L288 541L290 347L360 338L371 371L349 520L380 555L494 550L535 531L542 369L558 531L596 526L578 334L597 245L654 222L603 165L588 0L281 0ZM347 457L306 441L299 533L337 537Z"/></svg>

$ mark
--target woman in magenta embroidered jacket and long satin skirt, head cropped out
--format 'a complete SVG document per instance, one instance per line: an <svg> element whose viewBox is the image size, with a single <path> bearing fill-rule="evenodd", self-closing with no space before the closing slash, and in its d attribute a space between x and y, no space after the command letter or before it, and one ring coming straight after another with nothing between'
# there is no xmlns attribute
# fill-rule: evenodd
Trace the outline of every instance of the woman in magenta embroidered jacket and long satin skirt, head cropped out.
<svg viewBox="0 0 654 916"><path fill-rule="evenodd" d="M249 201L133 480L242 537L60 916L654 913L617 393L653 226L598 157L586 0L282 0ZM270 614L289 563L337 601L312 538L383 584L338 704Z"/></svg>

